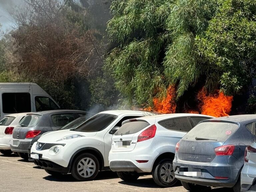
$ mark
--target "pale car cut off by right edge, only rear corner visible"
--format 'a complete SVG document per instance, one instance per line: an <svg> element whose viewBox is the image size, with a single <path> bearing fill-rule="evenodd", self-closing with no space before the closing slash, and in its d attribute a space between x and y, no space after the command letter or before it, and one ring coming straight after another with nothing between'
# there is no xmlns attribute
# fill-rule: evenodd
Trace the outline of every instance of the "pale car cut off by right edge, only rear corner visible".
<svg viewBox="0 0 256 192"><path fill-rule="evenodd" d="M241 192L256 191L256 143L246 147L244 167L241 172Z"/></svg>

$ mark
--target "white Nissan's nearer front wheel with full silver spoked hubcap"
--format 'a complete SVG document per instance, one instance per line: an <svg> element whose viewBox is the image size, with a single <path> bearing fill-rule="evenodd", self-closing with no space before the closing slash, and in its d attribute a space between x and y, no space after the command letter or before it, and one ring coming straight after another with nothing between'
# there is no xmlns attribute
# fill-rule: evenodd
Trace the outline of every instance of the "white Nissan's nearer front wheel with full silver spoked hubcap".
<svg viewBox="0 0 256 192"><path fill-rule="evenodd" d="M71 175L79 181L90 181L98 175L99 167L99 161L93 154L83 153L73 161Z"/></svg>

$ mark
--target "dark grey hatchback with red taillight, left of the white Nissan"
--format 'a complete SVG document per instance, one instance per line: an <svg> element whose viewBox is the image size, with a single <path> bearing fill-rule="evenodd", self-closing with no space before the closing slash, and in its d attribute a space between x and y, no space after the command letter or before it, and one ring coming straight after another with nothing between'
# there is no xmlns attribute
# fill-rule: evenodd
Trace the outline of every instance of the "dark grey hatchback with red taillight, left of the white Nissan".
<svg viewBox="0 0 256 192"><path fill-rule="evenodd" d="M28 159L31 140L39 134L55 131L89 112L78 110L51 110L27 114L13 129L10 141L11 150L18 152L23 159Z"/></svg>

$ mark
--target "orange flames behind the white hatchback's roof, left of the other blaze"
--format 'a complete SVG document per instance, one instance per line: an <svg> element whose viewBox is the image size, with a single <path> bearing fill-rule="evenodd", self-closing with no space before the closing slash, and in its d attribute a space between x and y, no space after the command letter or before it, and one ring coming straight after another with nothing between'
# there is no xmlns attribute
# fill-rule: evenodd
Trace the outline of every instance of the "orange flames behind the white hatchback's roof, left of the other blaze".
<svg viewBox="0 0 256 192"><path fill-rule="evenodd" d="M163 100L159 98L153 98L153 107L144 108L144 111L156 111L159 113L175 113L175 87L169 86L167 89L167 95Z"/></svg>

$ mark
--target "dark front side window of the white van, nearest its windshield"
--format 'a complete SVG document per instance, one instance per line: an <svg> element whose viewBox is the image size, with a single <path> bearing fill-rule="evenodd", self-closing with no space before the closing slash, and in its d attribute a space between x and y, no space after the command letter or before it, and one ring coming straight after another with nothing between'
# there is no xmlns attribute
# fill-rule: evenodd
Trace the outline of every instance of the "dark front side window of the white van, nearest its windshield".
<svg viewBox="0 0 256 192"><path fill-rule="evenodd" d="M36 111L57 110L59 107L49 97L35 97Z"/></svg>

